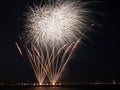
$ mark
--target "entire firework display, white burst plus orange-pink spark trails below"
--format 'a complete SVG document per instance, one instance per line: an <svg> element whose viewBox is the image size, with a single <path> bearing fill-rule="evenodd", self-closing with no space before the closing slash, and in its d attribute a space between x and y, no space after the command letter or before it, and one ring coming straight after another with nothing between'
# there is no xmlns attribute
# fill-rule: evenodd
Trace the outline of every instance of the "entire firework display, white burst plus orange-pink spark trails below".
<svg viewBox="0 0 120 90"><path fill-rule="evenodd" d="M40 85L46 76L55 85L90 29L94 21L88 16L93 12L87 5L89 2L81 0L46 0L25 13L21 40Z"/></svg>

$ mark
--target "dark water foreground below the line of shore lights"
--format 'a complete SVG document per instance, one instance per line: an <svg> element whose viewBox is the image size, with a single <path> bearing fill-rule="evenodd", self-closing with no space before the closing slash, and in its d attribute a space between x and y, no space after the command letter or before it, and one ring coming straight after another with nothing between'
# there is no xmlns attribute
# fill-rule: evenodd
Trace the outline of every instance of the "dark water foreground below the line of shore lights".
<svg viewBox="0 0 120 90"><path fill-rule="evenodd" d="M120 90L120 85L76 85L76 86L2 86L0 90Z"/></svg>

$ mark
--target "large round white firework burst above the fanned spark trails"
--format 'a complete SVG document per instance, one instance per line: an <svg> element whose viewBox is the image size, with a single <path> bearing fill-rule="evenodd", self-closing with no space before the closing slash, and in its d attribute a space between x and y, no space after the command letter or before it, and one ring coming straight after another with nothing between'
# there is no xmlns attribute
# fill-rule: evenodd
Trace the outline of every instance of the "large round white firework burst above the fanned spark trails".
<svg viewBox="0 0 120 90"><path fill-rule="evenodd" d="M76 0L49 0L29 7L26 14L25 41L38 46L61 47L84 36L91 13L88 3Z"/></svg>

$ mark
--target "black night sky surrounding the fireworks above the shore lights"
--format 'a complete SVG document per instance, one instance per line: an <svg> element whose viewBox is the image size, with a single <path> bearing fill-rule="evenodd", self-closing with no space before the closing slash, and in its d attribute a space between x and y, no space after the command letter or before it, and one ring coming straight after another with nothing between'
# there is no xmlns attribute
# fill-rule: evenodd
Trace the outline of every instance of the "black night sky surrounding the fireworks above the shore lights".
<svg viewBox="0 0 120 90"><path fill-rule="evenodd" d="M0 0L0 82L32 82L35 76L27 57L15 46L22 32L20 18L36 0ZM84 1L84 0L83 0ZM88 0L85 0L88 1ZM64 82L120 81L119 8L117 0L103 1L97 8L104 14L103 29L88 33L62 75Z"/></svg>

